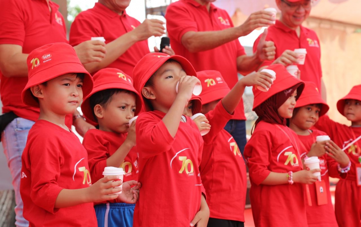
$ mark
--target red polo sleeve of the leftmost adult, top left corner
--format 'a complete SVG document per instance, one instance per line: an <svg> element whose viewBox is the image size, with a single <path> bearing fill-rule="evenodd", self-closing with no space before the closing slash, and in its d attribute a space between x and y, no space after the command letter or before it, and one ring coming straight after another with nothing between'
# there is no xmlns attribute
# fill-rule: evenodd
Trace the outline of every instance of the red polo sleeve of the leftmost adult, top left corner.
<svg viewBox="0 0 361 227"><path fill-rule="evenodd" d="M0 1L0 44L23 45L25 39L25 14L21 1Z"/></svg>

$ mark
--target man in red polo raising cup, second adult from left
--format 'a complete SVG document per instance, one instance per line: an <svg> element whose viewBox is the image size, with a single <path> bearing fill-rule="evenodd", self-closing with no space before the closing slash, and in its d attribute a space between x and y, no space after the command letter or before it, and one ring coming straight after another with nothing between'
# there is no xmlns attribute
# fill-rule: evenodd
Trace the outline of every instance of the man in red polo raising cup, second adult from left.
<svg viewBox="0 0 361 227"><path fill-rule="evenodd" d="M92 9L79 13L71 24L70 44L78 45L91 37L104 37L106 56L100 62L84 65L90 73L113 67L127 75L133 74L135 64L149 53L147 39L165 34L163 22L146 19L140 23L126 13L130 0L99 0ZM158 49L155 48L158 52ZM164 53L173 55L167 47Z"/></svg>

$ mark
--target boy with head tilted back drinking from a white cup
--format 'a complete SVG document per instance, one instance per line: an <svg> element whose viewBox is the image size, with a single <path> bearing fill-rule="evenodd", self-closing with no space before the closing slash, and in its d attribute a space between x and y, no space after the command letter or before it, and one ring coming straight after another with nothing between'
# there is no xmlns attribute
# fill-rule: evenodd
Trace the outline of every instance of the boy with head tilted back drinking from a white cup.
<svg viewBox="0 0 361 227"><path fill-rule="evenodd" d="M196 72L181 56L149 53L133 77L145 109L136 123L142 189L133 226L206 226L209 209L198 168L203 139L189 117L181 122L200 83Z"/></svg>

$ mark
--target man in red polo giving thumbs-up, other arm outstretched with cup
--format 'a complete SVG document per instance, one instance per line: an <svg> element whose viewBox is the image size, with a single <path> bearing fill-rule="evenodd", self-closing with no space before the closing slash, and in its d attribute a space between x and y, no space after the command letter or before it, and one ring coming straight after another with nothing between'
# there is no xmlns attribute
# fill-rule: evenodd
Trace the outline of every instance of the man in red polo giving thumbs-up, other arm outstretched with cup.
<svg viewBox="0 0 361 227"><path fill-rule="evenodd" d="M244 75L257 69L265 59L273 59L272 42L260 43L257 53L246 56L238 38L273 22L271 14L260 11L234 27L228 13L214 6L213 0L180 0L168 6L165 18L171 47L187 58L196 71L217 70L232 88ZM225 129L234 137L241 152L246 143L243 102Z"/></svg>

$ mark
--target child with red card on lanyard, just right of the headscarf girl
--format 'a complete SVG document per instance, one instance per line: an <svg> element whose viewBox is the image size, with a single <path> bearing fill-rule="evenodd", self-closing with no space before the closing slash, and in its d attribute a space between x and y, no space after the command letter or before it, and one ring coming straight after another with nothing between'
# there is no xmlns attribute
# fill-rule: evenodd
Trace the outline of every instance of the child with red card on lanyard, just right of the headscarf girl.
<svg viewBox="0 0 361 227"><path fill-rule="evenodd" d="M312 128L327 110L329 106L323 101L316 84L305 82L305 88L290 118L290 128L296 132L305 150L310 151L301 154L301 158L306 160L317 156L320 160L321 182L309 185L311 204L306 205L307 223L310 227L338 227L331 201L329 177L345 178L346 174L340 173L338 166L343 168L350 162L348 156L332 141L316 140L317 136L327 135L325 132ZM318 149L311 149L312 147L318 147ZM329 155L332 153L335 156Z"/></svg>

